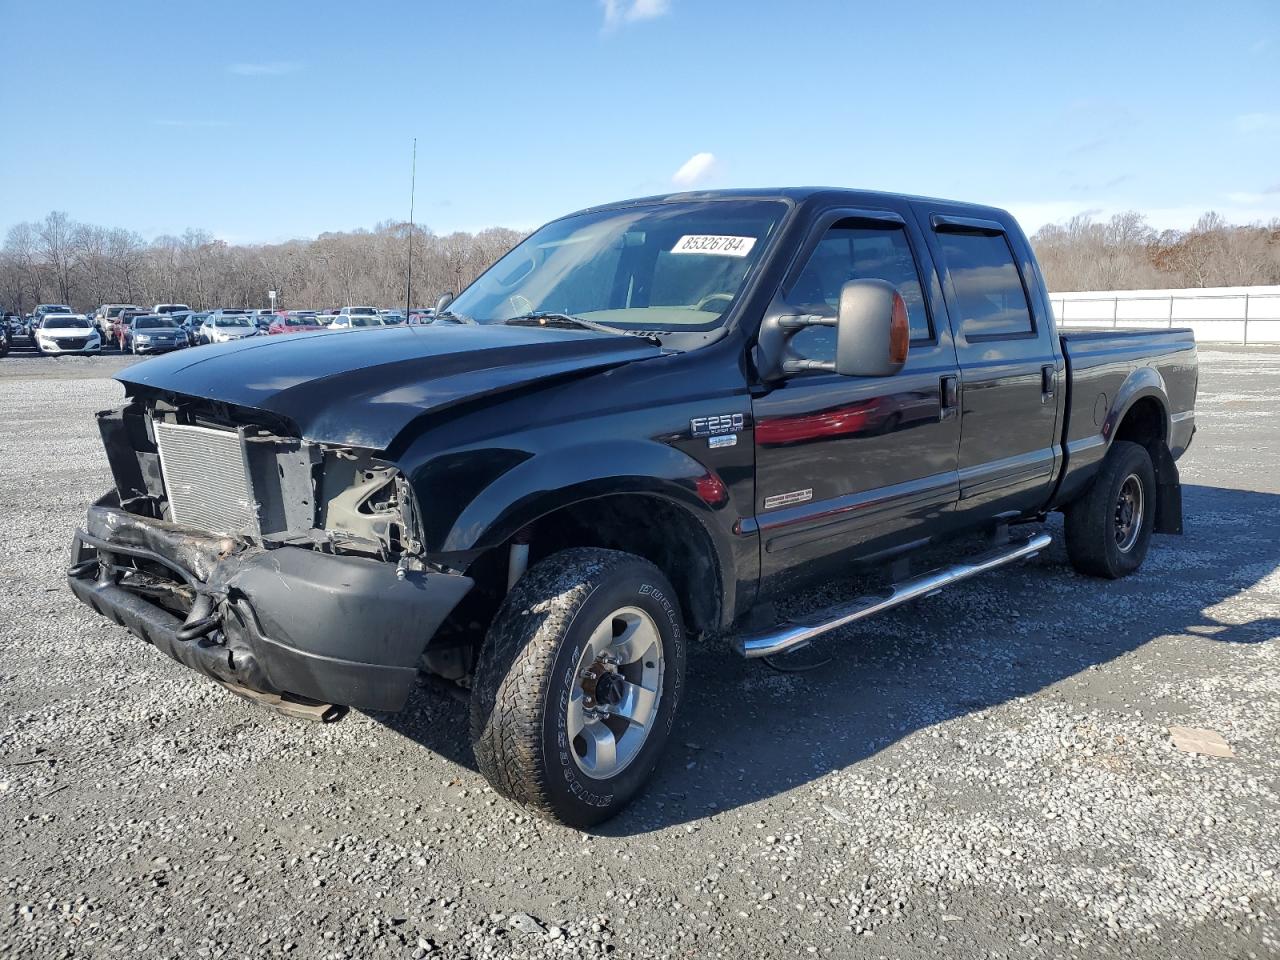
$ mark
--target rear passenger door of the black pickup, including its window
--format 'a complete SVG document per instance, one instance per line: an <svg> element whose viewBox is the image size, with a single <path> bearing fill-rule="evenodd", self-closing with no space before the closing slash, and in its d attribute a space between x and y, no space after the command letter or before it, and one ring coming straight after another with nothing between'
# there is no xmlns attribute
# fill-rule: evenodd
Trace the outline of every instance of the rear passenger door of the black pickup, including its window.
<svg viewBox="0 0 1280 960"><path fill-rule="evenodd" d="M965 525L1034 512L1061 457L1064 369L1038 274L1015 225L922 205L960 361Z"/></svg>

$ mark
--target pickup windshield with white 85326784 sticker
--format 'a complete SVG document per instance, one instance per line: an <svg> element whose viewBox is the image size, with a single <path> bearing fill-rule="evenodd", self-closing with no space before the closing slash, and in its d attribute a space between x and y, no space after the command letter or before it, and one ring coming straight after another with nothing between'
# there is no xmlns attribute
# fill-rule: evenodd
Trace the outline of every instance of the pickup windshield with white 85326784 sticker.
<svg viewBox="0 0 1280 960"><path fill-rule="evenodd" d="M570 314L632 330L719 326L786 212L780 201L687 201L548 224L449 305L479 323Z"/></svg>

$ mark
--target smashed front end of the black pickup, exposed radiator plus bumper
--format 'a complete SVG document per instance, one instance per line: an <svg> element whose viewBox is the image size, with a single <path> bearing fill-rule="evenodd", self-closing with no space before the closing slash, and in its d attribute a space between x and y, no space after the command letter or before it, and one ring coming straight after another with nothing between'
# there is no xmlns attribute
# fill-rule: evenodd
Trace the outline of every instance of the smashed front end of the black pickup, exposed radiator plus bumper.
<svg viewBox="0 0 1280 960"><path fill-rule="evenodd" d="M72 544L81 600L273 705L403 707L472 581L424 558L396 465L195 398L136 398L99 425L115 490Z"/></svg>

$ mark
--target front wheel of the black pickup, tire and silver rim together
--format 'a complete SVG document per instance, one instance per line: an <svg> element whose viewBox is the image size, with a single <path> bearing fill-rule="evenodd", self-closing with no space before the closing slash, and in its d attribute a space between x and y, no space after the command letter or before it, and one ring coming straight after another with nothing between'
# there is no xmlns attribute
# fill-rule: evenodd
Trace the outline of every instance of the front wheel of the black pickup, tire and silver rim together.
<svg viewBox="0 0 1280 960"><path fill-rule="evenodd" d="M476 666L480 772L571 827L614 815L667 742L685 645L676 591L648 561L594 548L541 561L503 602Z"/></svg>

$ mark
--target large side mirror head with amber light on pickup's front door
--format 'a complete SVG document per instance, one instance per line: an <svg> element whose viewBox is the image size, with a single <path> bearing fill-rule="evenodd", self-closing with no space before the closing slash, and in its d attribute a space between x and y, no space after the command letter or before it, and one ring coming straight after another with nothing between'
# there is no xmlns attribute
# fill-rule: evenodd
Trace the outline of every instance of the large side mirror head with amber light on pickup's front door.
<svg viewBox="0 0 1280 960"><path fill-rule="evenodd" d="M850 280L836 312L836 372L892 376L906 362L906 302L887 280Z"/></svg>

